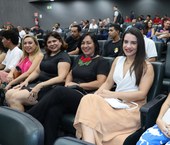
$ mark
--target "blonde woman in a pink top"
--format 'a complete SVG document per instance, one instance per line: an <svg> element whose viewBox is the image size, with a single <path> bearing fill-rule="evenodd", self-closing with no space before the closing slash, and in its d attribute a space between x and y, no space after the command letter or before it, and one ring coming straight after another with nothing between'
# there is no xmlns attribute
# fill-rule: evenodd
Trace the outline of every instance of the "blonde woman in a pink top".
<svg viewBox="0 0 170 145"><path fill-rule="evenodd" d="M43 54L40 50L38 40L31 35L26 35L22 40L23 56L15 68L6 77L6 90L24 81L40 64ZM19 75L19 76L18 76Z"/></svg>

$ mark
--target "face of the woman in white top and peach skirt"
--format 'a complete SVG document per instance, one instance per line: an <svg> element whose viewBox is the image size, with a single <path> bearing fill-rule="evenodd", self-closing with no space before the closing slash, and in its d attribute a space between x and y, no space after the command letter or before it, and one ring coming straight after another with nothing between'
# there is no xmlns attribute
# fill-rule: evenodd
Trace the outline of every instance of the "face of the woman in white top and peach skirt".
<svg viewBox="0 0 170 145"><path fill-rule="evenodd" d="M127 33L123 41L123 51L128 57L135 57L137 52L137 38L135 35Z"/></svg>

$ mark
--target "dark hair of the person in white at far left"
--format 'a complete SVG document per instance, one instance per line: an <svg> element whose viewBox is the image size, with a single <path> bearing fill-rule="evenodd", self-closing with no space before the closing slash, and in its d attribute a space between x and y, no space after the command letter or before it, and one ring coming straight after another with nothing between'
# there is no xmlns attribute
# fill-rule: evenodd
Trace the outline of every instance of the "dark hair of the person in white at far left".
<svg viewBox="0 0 170 145"><path fill-rule="evenodd" d="M7 40L10 39L14 45L18 45L19 33L17 33L16 29L3 31L2 37L5 37Z"/></svg>

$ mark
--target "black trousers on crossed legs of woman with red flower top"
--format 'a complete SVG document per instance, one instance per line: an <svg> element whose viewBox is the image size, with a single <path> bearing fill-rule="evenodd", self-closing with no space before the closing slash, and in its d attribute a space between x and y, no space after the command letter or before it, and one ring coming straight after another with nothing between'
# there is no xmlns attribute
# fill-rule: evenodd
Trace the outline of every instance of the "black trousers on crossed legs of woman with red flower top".
<svg viewBox="0 0 170 145"><path fill-rule="evenodd" d="M53 145L64 114L75 114L83 95L64 86L47 92L27 113L38 119L45 130L45 145Z"/></svg>

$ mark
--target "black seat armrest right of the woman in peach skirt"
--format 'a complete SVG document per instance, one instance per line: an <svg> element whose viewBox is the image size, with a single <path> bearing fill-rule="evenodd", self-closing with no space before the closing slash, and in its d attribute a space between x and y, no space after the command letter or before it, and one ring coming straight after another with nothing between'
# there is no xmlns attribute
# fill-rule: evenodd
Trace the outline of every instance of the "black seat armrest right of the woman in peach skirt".
<svg viewBox="0 0 170 145"><path fill-rule="evenodd" d="M145 130L153 126L167 95L160 94L140 108L141 127Z"/></svg>

